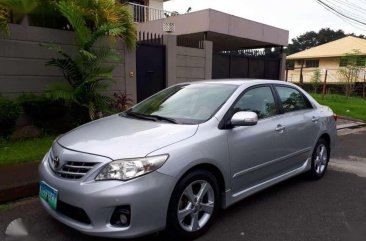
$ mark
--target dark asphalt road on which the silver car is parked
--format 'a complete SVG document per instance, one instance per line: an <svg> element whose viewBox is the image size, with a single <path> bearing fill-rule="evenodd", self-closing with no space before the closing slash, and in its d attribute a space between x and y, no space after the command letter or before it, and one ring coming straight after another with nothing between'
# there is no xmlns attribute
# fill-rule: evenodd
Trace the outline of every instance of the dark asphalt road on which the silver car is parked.
<svg viewBox="0 0 366 241"><path fill-rule="evenodd" d="M346 134L340 136L333 157L346 161L346 167L332 164L321 181L296 177L243 200L220 213L210 231L198 240L364 241L366 178L354 174L352 167L366 162L366 128L342 133ZM43 211L37 199L0 211L1 241L5 240L8 223L19 217L30 233L23 240L112 241L89 237L58 223ZM156 234L137 241L160 240L166 238Z"/></svg>

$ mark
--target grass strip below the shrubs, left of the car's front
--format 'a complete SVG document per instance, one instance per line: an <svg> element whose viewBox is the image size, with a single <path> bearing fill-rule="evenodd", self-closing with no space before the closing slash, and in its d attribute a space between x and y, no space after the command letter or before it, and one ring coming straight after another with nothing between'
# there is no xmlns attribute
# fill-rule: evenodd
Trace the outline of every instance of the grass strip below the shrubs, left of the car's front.
<svg viewBox="0 0 366 241"><path fill-rule="evenodd" d="M41 160L55 138L46 136L24 140L0 140L0 166Z"/></svg>

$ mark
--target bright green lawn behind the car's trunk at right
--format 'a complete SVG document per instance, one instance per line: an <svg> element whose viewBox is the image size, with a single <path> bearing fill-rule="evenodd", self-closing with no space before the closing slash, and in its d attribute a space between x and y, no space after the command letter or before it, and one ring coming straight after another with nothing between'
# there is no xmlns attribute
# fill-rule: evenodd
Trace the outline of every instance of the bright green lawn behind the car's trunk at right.
<svg viewBox="0 0 366 241"><path fill-rule="evenodd" d="M347 116L366 121L366 99L343 95L311 94L320 104L329 106L339 116Z"/></svg>

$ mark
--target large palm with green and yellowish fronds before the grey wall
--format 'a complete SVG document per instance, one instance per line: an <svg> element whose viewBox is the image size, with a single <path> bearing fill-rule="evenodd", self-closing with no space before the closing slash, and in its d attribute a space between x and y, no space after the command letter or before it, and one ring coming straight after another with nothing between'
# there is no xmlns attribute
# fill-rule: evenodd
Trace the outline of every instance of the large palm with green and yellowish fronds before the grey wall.
<svg viewBox="0 0 366 241"><path fill-rule="evenodd" d="M64 0L55 4L75 32L78 51L71 56L61 46L45 45L61 55L47 64L60 68L67 81L50 85L49 96L85 106L93 120L111 103L111 98L101 91L113 81L115 64L112 63L121 61L111 44L123 39L127 47L135 45L132 16L125 6L114 0ZM102 41L96 46L98 40Z"/></svg>

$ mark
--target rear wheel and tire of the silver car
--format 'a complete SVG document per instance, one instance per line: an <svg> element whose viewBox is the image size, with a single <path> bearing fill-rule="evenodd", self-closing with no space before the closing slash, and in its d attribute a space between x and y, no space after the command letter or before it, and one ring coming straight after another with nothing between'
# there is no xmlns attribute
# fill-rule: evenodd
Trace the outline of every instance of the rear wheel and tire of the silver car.
<svg viewBox="0 0 366 241"><path fill-rule="evenodd" d="M311 156L311 169L308 177L312 180L321 179L327 171L330 157L330 146L325 139L319 139Z"/></svg>

